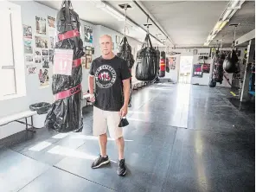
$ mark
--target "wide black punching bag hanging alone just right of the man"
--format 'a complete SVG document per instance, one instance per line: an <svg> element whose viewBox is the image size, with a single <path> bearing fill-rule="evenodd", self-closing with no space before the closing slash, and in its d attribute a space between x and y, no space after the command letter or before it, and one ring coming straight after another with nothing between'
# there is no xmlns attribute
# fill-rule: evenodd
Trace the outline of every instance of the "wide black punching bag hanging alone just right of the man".
<svg viewBox="0 0 256 192"><path fill-rule="evenodd" d="M141 81L155 80L157 77L157 52L152 48L150 35L147 34L138 51L136 59L136 79Z"/></svg>

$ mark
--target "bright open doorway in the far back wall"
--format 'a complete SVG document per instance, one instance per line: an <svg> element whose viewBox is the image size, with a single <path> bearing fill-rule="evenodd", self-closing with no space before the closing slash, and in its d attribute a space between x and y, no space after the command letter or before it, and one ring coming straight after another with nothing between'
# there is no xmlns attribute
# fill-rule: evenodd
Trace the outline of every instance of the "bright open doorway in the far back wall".
<svg viewBox="0 0 256 192"><path fill-rule="evenodd" d="M190 84L193 56L181 56L179 83Z"/></svg>

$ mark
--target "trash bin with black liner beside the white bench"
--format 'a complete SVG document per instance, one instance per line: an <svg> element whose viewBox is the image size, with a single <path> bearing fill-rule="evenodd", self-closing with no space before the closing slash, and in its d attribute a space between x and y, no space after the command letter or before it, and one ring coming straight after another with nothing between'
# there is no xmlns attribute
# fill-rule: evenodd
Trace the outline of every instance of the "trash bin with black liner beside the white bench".
<svg viewBox="0 0 256 192"><path fill-rule="evenodd" d="M43 128L44 127L44 121L47 116L48 110L50 109L51 104L46 103L46 102L40 102L40 103L35 103L29 106L29 109L31 111L36 111L37 115L33 116L33 121L34 121L34 127L35 128Z"/></svg>

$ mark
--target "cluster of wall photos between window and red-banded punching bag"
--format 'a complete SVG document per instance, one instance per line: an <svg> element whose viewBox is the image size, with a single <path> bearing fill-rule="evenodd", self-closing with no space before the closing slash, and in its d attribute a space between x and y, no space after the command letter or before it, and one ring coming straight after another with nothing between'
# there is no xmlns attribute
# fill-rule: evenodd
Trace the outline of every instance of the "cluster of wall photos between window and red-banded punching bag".
<svg viewBox="0 0 256 192"><path fill-rule="evenodd" d="M41 88L49 86L49 68L54 58L55 18L35 16L35 24L23 25L27 74L37 74ZM34 29L34 33L33 33Z"/></svg>

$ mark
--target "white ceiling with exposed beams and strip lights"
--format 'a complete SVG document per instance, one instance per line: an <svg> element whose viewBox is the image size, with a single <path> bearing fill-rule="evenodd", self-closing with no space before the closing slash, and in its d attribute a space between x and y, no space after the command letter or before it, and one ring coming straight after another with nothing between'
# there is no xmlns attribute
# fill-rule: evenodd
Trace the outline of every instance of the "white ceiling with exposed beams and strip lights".
<svg viewBox="0 0 256 192"><path fill-rule="evenodd" d="M48 7L59 10L62 1L39 1ZM119 22L116 18L110 16L103 10L96 8L92 1L72 1L74 10L79 14L80 18L86 22L104 25L107 28L114 29L120 33L123 32L124 22ZM132 1L108 1L113 8L121 13L118 4L129 3L131 9L127 10L127 16L133 22L144 28L147 16L138 9ZM223 10L227 6L227 1L143 1L145 11L149 12L156 18L163 30L170 36L170 39L176 44L176 47L202 47L206 41L208 34L214 28ZM248 30L255 29L255 2L244 3L241 10L234 15L231 22L241 22L237 38L246 34ZM225 41L230 42L233 38L230 27L227 26L215 37L220 38L223 33ZM160 34L160 30L156 26L150 27L152 35ZM129 29L129 36L142 42L145 33ZM158 39L164 39L164 35L159 35ZM152 42L157 46L157 41L151 38ZM213 41L214 42L214 41Z"/></svg>

